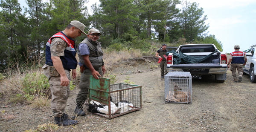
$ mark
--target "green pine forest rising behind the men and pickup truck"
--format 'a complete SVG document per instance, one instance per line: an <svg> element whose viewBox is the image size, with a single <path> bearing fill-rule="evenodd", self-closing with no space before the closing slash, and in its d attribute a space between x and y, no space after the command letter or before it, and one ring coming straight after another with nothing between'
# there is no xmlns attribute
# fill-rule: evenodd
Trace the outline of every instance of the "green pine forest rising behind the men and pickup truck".
<svg viewBox="0 0 256 132"><path fill-rule="evenodd" d="M0 3L0 72L24 64L42 64L47 40L72 20L102 33L104 49L119 52L137 49L152 56L161 44L222 43L207 34L207 16L198 3L180 0L99 0L88 13L88 0L26 0L22 11L17 0ZM182 8L177 6L182 5ZM79 44L84 36L76 38ZM157 43L154 45L154 43ZM35 62L35 63L32 63Z"/></svg>

